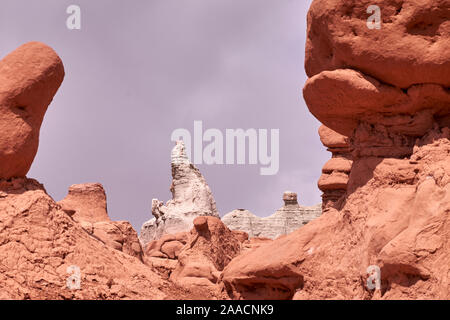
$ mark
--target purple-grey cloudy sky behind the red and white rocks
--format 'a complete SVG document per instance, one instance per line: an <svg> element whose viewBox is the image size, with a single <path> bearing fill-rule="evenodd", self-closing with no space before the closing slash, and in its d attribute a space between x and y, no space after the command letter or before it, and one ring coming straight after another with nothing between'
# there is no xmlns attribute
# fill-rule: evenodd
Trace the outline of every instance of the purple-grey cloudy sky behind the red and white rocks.
<svg viewBox="0 0 450 320"><path fill-rule="evenodd" d="M171 133L280 129L280 170L199 165L221 215L260 216L321 201L317 180L330 158L301 89L310 0L2 0L0 54L42 41L66 78L41 129L28 176L62 199L71 184L101 182L109 215L140 231L152 198L170 199ZM81 30L66 8L81 7Z"/></svg>

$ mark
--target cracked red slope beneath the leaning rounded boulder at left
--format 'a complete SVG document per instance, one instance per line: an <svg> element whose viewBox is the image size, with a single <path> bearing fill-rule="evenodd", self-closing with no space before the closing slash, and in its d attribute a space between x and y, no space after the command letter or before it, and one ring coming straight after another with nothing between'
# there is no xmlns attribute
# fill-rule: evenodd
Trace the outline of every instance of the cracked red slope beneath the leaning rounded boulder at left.
<svg viewBox="0 0 450 320"><path fill-rule="evenodd" d="M0 299L164 299L171 285L62 211L43 186L0 180ZM80 269L80 289L69 289ZM176 291L175 291L176 292Z"/></svg>

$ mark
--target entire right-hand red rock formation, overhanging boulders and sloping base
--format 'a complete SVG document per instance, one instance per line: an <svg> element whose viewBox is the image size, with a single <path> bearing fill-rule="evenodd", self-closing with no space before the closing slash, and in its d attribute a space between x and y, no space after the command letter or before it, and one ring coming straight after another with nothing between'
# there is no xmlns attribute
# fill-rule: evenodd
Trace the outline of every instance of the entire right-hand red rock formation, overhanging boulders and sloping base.
<svg viewBox="0 0 450 320"><path fill-rule="evenodd" d="M381 30L365 26L372 4ZM313 2L305 100L349 137L353 161L347 178L350 163L333 159L319 185L346 191L305 227L234 259L221 278L230 297L450 298L449 9L439 0ZM368 267L380 269L375 290Z"/></svg>

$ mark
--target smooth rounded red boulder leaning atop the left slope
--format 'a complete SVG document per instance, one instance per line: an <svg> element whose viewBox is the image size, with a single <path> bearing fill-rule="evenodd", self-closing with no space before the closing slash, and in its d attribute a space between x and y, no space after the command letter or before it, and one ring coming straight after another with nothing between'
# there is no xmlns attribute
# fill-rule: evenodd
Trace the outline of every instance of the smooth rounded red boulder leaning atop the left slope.
<svg viewBox="0 0 450 320"><path fill-rule="evenodd" d="M24 44L0 61L0 179L27 174L63 78L61 59L43 43Z"/></svg>

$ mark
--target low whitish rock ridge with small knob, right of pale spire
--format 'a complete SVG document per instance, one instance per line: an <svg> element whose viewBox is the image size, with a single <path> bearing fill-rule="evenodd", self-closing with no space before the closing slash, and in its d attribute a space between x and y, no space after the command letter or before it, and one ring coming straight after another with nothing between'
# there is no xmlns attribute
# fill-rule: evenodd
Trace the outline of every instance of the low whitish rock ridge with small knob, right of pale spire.
<svg viewBox="0 0 450 320"><path fill-rule="evenodd" d="M241 230L250 238L275 239L302 227L322 214L321 205L300 206L297 194L286 191L283 194L284 206L273 215L258 217L248 210L234 210L222 217L222 222L231 230Z"/></svg>

